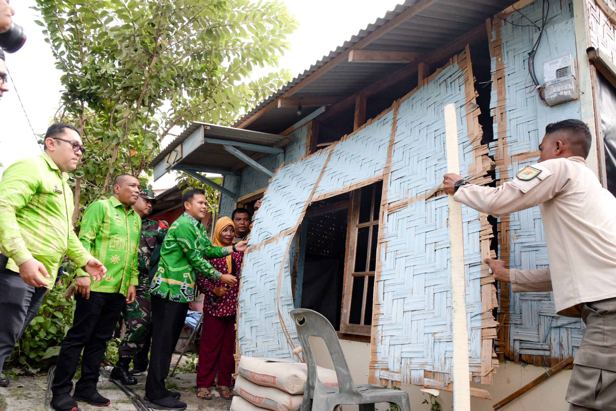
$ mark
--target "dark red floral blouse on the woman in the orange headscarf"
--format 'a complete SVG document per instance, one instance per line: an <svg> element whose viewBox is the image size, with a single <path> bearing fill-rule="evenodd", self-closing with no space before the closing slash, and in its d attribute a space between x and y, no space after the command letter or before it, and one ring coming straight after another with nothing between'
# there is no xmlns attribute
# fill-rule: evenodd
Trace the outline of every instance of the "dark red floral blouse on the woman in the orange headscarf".
<svg viewBox="0 0 616 411"><path fill-rule="evenodd" d="M244 260L244 252L237 252L231 255L232 272L237 277L237 267L241 267ZM227 274L227 257L221 258L206 258L211 265L214 266L221 274ZM228 287L229 291L222 297L214 294L216 287ZM203 311L213 315L214 317L234 316L237 309L237 293L240 289L239 283L229 286L220 280L212 280L197 274L197 288L204 294Z"/></svg>

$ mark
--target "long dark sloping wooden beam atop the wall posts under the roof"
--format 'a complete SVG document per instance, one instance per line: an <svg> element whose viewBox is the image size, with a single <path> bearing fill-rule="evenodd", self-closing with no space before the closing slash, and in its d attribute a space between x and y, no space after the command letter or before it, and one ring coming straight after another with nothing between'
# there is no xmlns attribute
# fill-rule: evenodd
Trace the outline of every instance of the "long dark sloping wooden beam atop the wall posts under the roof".
<svg viewBox="0 0 616 411"><path fill-rule="evenodd" d="M459 38L448 42L445 46L440 47L434 53L431 53L424 58L423 62L427 65L434 65L445 58L451 57L456 54L456 52L464 49L466 44L476 44L479 41L487 38L487 33L485 31L485 24L477 26L466 34L463 34ZM316 118L317 121L324 121L326 119L338 116L338 114L342 113L342 111L347 110L352 105L355 104L355 99L359 95L363 95L365 97L370 97L371 95L375 95L381 90L387 89L387 87L394 86L397 82L415 76L418 72L418 61L411 62L407 66L401 68L400 70L394 71L394 73L389 74L389 76L380 79L379 81L371 84L365 89L359 90L357 93L350 95L344 100L331 105L328 107L327 111Z"/></svg>

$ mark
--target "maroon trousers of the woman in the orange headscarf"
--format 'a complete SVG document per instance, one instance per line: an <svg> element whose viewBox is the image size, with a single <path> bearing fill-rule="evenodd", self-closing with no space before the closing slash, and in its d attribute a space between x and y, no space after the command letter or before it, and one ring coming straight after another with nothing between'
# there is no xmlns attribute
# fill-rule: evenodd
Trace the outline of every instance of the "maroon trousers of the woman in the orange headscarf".
<svg viewBox="0 0 616 411"><path fill-rule="evenodd" d="M232 385L235 371L235 316L214 317L203 311L201 346L197 364L197 387L214 385L218 371L218 385Z"/></svg>

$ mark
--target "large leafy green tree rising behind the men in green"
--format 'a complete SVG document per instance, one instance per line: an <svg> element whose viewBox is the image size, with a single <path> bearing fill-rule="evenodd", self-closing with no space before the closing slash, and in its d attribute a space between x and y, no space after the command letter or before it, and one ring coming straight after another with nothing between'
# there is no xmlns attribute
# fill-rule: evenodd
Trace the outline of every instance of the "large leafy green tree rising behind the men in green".
<svg viewBox="0 0 616 411"><path fill-rule="evenodd" d="M282 70L247 80L288 49L296 22L278 1L36 3L64 72L56 118L83 130L87 150L74 172L76 206L108 195L120 172L147 182L174 127L229 125L290 79Z"/></svg>

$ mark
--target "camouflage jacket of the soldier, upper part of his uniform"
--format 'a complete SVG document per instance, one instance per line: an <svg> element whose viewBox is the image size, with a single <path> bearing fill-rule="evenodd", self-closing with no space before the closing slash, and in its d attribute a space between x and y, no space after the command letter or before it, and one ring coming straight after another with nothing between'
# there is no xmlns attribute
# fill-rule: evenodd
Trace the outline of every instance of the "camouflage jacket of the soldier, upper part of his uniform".
<svg viewBox="0 0 616 411"><path fill-rule="evenodd" d="M137 266L139 268L139 285L147 284L150 289L150 282L160 260L160 248L163 245L164 236L168 228L161 228L158 221L142 218L141 233L139 234L139 252L137 253ZM152 273L152 276L150 276Z"/></svg>

